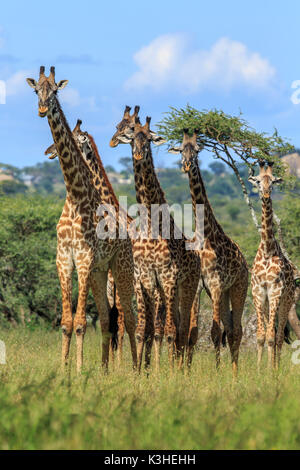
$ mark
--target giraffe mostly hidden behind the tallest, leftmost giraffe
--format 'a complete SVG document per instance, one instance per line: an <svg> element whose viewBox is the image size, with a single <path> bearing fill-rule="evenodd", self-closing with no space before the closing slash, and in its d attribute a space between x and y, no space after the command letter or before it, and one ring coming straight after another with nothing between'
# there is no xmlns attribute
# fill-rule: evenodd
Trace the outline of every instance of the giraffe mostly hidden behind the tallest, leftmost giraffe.
<svg viewBox="0 0 300 470"><path fill-rule="evenodd" d="M96 143L90 134L81 130L81 124L82 124L82 121L78 119L76 126L73 130L73 136L78 143L78 146L81 150L82 156L87 166L89 167L89 170L93 178L93 184L95 188L100 191L101 200L105 202L106 204L110 204L114 206L115 209L119 211L120 210L119 201L108 180L108 177L103 167ZM50 159L55 158L57 156L55 144L52 144L46 150L45 153L51 154L49 156ZM103 184L104 184L104 188L102 187ZM130 226L133 222L133 219L128 214L126 214L126 218L127 218L128 226ZM132 249L133 249L133 254L134 254L135 253L135 240L134 239L132 240ZM109 279L109 282L107 284L107 295L108 295L110 306L112 307L114 304L114 294L116 290L114 287L114 281L111 275L111 271L109 271L108 279ZM145 302L147 304L146 299L145 299ZM117 292L116 292L116 306L119 311L119 315L118 315L118 363L120 365L122 362L122 350L123 350L122 346L123 346L125 324L124 324L124 312L122 310L122 306L121 306L120 299L119 299ZM161 338L162 337L161 329L162 329L162 324L164 321L164 309L163 309L163 304L161 302L159 291L157 289L155 290L155 306L156 306L156 316L155 316L156 330L155 331L156 333L159 332L159 336ZM130 325L130 327L132 327L132 325ZM111 352L112 352L112 357L113 357L112 348L111 348ZM146 361L145 361L146 368L148 368L148 366L150 365L150 352L151 351L149 350L149 346L148 346L148 353L146 355Z"/></svg>

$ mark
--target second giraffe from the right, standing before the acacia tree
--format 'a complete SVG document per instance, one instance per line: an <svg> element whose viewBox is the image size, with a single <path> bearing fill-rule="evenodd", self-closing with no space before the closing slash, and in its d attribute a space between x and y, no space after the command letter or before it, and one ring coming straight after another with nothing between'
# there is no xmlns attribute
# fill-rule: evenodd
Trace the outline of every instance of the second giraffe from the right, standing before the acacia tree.
<svg viewBox="0 0 300 470"><path fill-rule="evenodd" d="M231 352L232 369L237 374L239 347L242 339L241 317L248 288L248 268L245 258L215 218L208 200L198 164L201 147L197 144L198 131L192 137L183 131L180 147L171 147L170 153L181 153L182 171L188 174L194 213L196 205L204 205L204 237L199 233L198 256L204 286L210 293L213 307L211 337L216 352L216 366L220 365L222 321ZM230 304L231 309L230 310Z"/></svg>

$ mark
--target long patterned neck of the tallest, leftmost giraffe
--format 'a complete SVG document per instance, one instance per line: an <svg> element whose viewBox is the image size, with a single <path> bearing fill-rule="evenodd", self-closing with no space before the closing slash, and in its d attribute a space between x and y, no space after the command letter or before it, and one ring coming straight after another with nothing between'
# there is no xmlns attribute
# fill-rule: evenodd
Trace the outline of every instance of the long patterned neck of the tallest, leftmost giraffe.
<svg viewBox="0 0 300 470"><path fill-rule="evenodd" d="M84 163L57 98L48 113L48 122L59 155L67 195L74 202L92 199L89 169Z"/></svg>

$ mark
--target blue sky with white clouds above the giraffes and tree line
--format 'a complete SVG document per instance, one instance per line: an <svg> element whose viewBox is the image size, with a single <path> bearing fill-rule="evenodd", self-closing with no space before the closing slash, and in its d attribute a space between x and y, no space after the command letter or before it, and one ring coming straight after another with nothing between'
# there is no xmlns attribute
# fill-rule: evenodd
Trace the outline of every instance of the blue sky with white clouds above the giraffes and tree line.
<svg viewBox="0 0 300 470"><path fill-rule="evenodd" d="M46 158L50 129L25 82L40 65L55 65L57 80L69 80L60 100L71 127L81 118L104 164L116 168L130 155L129 146L109 147L126 104L139 104L153 126L170 105L241 109L253 127L275 126L300 147L300 104L291 101L300 80L299 18L295 0L6 2L0 162L22 167ZM171 166L176 157L163 147L155 160Z"/></svg>

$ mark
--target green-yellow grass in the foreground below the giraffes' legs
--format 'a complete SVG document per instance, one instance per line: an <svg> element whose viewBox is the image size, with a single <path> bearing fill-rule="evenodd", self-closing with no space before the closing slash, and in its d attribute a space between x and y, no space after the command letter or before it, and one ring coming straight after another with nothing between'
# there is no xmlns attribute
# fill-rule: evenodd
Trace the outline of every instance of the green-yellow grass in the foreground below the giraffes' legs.
<svg viewBox="0 0 300 470"><path fill-rule="evenodd" d="M137 376L126 343L124 365L104 375L100 329L88 328L85 366L60 370L61 333L1 329L1 449L299 449L300 365L285 345L278 373L258 375L255 349L242 348L233 381L228 349L198 350L192 371ZM266 359L266 358L265 358ZM265 364L264 364L265 366Z"/></svg>

